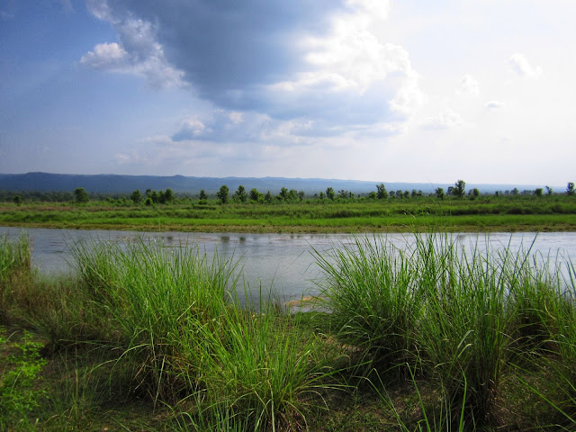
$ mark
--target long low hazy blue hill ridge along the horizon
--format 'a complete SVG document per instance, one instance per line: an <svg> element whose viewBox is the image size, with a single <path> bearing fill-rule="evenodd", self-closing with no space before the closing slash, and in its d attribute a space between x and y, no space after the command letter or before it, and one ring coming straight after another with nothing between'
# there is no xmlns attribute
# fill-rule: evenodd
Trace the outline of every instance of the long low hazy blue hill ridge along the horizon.
<svg viewBox="0 0 576 432"><path fill-rule="evenodd" d="M465 180L465 179L464 179ZM369 193L376 190L376 184L385 184L388 191L421 190L424 193L434 192L437 187L445 191L453 184L432 183L392 183L385 181L365 182L357 180L338 180L323 178L284 178L284 177L186 177L184 175L70 175L49 173L0 174L0 191L23 192L73 192L76 187L84 187L88 193L131 193L135 189L140 192L146 189L172 189L175 193L216 193L222 184L229 187L230 192L242 184L247 191L256 188L259 192L279 193L285 187L303 191L307 194L320 193L332 187L337 193L344 189L352 193ZM511 190L515 187L523 190L534 190L543 185L534 184L466 184L466 189L477 187L481 193ZM562 188L554 187L560 192Z"/></svg>

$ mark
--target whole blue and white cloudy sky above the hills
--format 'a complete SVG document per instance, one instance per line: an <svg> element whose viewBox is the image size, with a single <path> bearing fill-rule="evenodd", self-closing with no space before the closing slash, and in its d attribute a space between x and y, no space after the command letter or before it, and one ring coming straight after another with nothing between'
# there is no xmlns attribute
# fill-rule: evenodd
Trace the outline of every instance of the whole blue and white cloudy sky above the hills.
<svg viewBox="0 0 576 432"><path fill-rule="evenodd" d="M0 0L0 173L563 185L573 0Z"/></svg>

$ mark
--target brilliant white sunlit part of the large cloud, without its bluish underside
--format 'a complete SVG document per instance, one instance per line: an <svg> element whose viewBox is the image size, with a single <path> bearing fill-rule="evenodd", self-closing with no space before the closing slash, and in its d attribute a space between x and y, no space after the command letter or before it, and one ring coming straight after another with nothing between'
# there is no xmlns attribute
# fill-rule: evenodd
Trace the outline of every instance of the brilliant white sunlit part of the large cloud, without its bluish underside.
<svg viewBox="0 0 576 432"><path fill-rule="evenodd" d="M419 75L411 67L408 52L399 45L382 43L371 27L388 15L388 2L351 0L346 14L332 20L326 37L302 41L305 56L313 70L291 81L275 83L271 89L312 94L318 91L358 97L374 87L381 92L382 103L409 115L421 103ZM391 76L394 76L392 78Z"/></svg>

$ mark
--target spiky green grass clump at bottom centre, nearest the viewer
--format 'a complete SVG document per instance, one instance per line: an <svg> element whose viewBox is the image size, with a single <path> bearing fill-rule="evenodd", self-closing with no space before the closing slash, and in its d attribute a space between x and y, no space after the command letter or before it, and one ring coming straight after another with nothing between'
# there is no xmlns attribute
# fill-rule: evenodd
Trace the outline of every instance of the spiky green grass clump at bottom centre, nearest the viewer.
<svg viewBox="0 0 576 432"><path fill-rule="evenodd" d="M305 430L332 374L318 338L270 304L259 312L230 308L222 325L224 338L202 335L211 353L202 363L205 390L195 395L199 419L211 425L204 428L216 430L226 412L226 430Z"/></svg>

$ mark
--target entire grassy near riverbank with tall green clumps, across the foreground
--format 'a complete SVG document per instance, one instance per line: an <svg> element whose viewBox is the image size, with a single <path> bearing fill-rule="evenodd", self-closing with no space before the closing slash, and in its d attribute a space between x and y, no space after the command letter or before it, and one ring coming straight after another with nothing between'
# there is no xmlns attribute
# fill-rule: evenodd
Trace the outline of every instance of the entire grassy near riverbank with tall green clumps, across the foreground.
<svg viewBox="0 0 576 432"><path fill-rule="evenodd" d="M46 280L0 238L0 430L574 430L575 266L414 239L316 253L288 313L195 247L76 244Z"/></svg>

